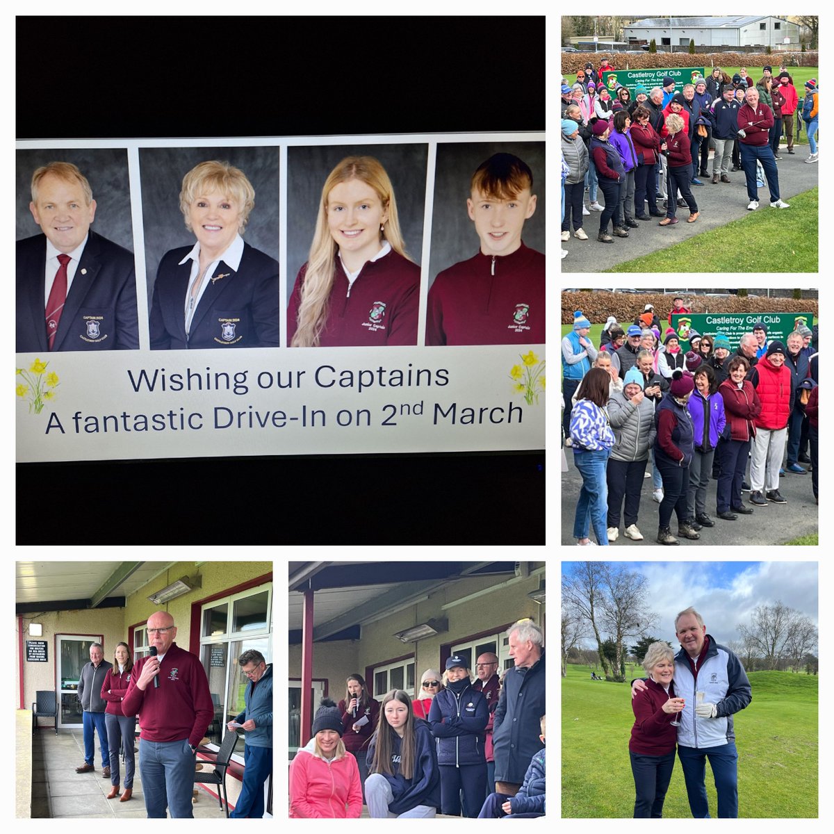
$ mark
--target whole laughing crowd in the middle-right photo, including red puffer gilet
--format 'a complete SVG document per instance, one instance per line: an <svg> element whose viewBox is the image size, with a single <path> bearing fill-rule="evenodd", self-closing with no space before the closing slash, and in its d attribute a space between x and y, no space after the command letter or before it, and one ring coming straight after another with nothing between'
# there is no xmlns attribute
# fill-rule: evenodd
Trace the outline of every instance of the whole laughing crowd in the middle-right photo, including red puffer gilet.
<svg viewBox="0 0 834 834"><path fill-rule="evenodd" d="M672 314L690 312L683 299L674 304L669 324ZM563 440L582 476L577 545L610 544L621 519L626 538L643 540L637 522L644 478L653 479L660 505L661 545L679 544L673 514L682 538L701 539L701 530L716 525L707 506L711 479L716 516L725 521L786 504L779 490L786 473L810 471L818 504L815 333L797 321L784 341L768 339L767 325L757 322L731 353L726 334L690 329L682 339L671 326L661 335L658 324L651 304L633 324L612 316L597 350L590 321L576 310L562 339Z"/></svg>

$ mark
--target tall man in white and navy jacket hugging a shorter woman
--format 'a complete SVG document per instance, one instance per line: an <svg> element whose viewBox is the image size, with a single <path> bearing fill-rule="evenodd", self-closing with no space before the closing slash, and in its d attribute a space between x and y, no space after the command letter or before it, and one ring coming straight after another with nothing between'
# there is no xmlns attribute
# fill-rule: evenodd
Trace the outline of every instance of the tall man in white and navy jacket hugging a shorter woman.
<svg viewBox="0 0 834 834"><path fill-rule="evenodd" d="M686 699L677 745L692 816L710 816L706 760L718 794L718 816L738 816L738 752L732 716L752 700L750 681L736 654L706 633L703 617L686 608L675 618L681 651L675 656L675 691ZM646 688L635 681L633 689ZM633 693L632 693L633 694Z"/></svg>

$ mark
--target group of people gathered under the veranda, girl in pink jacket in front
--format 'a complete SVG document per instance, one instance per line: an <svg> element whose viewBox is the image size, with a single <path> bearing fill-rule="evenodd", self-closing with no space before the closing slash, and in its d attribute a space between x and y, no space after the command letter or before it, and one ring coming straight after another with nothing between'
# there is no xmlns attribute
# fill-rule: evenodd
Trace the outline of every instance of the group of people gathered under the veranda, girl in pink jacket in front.
<svg viewBox="0 0 834 834"><path fill-rule="evenodd" d="M532 620L506 632L514 665L477 658L475 678L453 654L427 669L415 698L381 706L350 675L337 706L325 698L289 770L290 816L357 818L545 815L545 650Z"/></svg>

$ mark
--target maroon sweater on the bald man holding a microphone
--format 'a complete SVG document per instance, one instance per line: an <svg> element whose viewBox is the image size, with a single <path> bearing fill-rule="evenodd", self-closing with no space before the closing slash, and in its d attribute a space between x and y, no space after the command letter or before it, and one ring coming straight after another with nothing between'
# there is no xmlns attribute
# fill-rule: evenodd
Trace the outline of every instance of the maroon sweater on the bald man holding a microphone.
<svg viewBox="0 0 834 834"><path fill-rule="evenodd" d="M159 688L151 681L142 691L136 684L148 660L143 657L133 666L122 711L126 716L139 716L139 737L145 741L182 741L187 737L189 744L198 745L214 718L203 664L196 655L172 643L159 666Z"/></svg>

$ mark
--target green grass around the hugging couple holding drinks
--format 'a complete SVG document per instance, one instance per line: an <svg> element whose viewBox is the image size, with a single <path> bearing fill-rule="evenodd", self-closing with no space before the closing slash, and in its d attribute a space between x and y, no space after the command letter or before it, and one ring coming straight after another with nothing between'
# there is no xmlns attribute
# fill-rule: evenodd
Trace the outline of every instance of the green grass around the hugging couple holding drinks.
<svg viewBox="0 0 834 834"><path fill-rule="evenodd" d="M626 670L629 681L641 676L639 666ZM739 816L816 817L817 678L791 672L751 672L748 677L753 701L735 716ZM563 817L631 817L628 741L633 723L627 684L591 681L589 666L567 667L562 679ZM709 772L706 793L715 816L716 790ZM680 762L672 772L663 816L691 816Z"/></svg>

